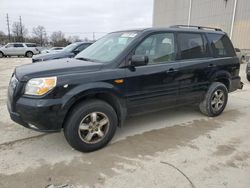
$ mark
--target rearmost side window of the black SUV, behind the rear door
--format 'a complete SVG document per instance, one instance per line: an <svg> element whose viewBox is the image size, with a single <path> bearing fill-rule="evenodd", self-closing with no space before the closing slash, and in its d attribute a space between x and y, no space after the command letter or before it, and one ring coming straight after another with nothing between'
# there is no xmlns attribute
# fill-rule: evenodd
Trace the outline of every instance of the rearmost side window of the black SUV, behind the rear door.
<svg viewBox="0 0 250 188"><path fill-rule="evenodd" d="M227 35L208 33L208 39L215 57L233 57L235 51Z"/></svg>

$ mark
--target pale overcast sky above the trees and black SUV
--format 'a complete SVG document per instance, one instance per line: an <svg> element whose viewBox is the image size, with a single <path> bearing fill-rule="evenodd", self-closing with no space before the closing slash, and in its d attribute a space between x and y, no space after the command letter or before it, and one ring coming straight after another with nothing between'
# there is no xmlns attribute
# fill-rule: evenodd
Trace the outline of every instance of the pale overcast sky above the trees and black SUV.
<svg viewBox="0 0 250 188"><path fill-rule="evenodd" d="M90 32L99 37L99 32L150 27L153 0L0 0L0 31L5 33L7 13L11 25L22 16L29 35L42 25L48 35L61 30L90 38Z"/></svg>

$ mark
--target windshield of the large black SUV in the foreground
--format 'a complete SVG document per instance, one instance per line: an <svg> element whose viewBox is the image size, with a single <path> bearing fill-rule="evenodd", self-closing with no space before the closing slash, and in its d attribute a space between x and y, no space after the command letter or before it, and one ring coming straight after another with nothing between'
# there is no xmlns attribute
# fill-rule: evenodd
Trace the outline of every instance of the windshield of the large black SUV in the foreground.
<svg viewBox="0 0 250 188"><path fill-rule="evenodd" d="M83 50L75 58L97 62L109 62L134 40L137 32L110 33Z"/></svg>

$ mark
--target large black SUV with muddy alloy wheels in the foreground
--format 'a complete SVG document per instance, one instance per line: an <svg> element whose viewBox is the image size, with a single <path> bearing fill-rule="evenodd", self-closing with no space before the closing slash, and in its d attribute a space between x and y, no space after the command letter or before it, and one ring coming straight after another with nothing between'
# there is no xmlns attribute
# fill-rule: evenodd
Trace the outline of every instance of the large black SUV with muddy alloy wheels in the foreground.
<svg viewBox="0 0 250 188"><path fill-rule="evenodd" d="M8 90L12 120L40 131L64 130L69 144L104 147L125 118L198 104L222 113L242 87L240 63L220 29L173 26L110 33L75 58L17 67Z"/></svg>

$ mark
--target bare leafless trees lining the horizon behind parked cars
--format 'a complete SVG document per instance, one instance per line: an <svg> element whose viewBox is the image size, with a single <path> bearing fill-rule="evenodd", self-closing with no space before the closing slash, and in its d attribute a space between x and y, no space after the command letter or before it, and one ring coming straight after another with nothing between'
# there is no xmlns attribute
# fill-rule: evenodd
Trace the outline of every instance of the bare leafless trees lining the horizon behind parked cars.
<svg viewBox="0 0 250 188"><path fill-rule="evenodd" d="M19 22L12 24L10 37L3 31L0 31L0 44L6 44L8 42L32 42L40 46L64 47L79 41L88 41L88 38L81 40L79 36L76 35L65 37L62 31L54 31L48 36L45 27L41 25L34 27L31 34L28 35L28 29Z"/></svg>

